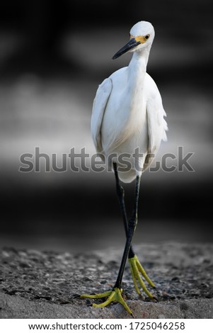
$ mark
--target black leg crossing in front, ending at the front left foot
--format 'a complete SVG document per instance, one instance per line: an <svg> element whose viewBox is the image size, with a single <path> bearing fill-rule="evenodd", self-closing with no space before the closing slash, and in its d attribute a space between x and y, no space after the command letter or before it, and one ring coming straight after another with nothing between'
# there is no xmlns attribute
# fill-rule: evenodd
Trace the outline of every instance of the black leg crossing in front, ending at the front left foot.
<svg viewBox="0 0 213 333"><path fill-rule="evenodd" d="M128 230L127 230L127 240L125 244L125 250L122 256L122 261L120 264L120 269L117 275L117 280L115 282L114 288L120 288L122 282L122 276L125 271L125 265L127 262L127 257L129 254L129 249L131 248L132 237L134 235L134 230L137 226L137 208L138 208L138 199L139 199L139 185L140 185L140 176L136 177L136 186L135 186L135 195L134 195L134 209L132 213L132 218L129 220Z"/></svg>

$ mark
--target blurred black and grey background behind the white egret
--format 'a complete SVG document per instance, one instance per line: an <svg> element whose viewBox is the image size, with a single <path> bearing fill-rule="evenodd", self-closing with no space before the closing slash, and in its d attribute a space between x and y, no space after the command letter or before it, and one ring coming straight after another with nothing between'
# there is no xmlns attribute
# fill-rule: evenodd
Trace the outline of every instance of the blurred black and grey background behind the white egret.
<svg viewBox="0 0 213 333"><path fill-rule="evenodd" d="M194 154L195 171L146 171L134 242L212 242L212 1L1 1L1 246L90 252L122 248L125 232L112 173L20 172L24 153L94 154L98 84L130 54L113 55L137 21L156 30L147 72L167 113L166 153ZM183 157L184 157L183 156ZM32 159L33 160L33 159ZM51 160L51 159L50 159ZM76 159L76 165L79 162ZM168 166L177 159L168 159ZM90 165L90 159L87 159ZM127 211L134 184L125 185Z"/></svg>

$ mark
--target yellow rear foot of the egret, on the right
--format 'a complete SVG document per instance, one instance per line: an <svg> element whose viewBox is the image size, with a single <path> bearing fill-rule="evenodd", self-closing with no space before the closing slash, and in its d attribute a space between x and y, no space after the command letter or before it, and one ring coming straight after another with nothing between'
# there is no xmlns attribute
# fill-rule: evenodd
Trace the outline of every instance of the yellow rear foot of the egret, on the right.
<svg viewBox="0 0 213 333"><path fill-rule="evenodd" d="M150 284L150 286L152 288L155 288L154 283L150 280L149 276L147 276L146 271L144 270L144 268L140 264L136 255L134 255L133 258L129 259L129 265L130 265L130 270L131 270L131 273L132 273L132 279L133 279L133 282L134 282L134 288L136 289L137 293L139 295L141 294L141 292L138 288L138 284L139 284L139 286L142 287L142 289L144 290L144 293L146 293L146 295L148 295L149 298L151 298L152 300L157 300L154 297L154 295L149 293L149 290L146 288L146 285L145 285L144 281L142 280L142 277L141 277L140 274L142 274L144 279Z"/></svg>

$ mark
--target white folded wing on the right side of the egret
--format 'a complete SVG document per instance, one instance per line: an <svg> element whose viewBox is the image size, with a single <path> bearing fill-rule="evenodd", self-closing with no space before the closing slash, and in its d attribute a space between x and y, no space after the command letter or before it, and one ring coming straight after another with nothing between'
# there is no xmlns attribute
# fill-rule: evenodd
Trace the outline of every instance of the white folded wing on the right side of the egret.
<svg viewBox="0 0 213 333"><path fill-rule="evenodd" d="M166 141L166 130L168 130L166 120L166 112L163 108L161 94L156 86L156 83L149 74L146 74L145 86L146 91L146 115L147 115L147 126L148 126L148 154L154 154L161 140ZM147 156L148 157L148 156ZM150 155L148 157L150 159ZM153 158L151 158L152 160ZM150 164L151 160L145 164Z"/></svg>

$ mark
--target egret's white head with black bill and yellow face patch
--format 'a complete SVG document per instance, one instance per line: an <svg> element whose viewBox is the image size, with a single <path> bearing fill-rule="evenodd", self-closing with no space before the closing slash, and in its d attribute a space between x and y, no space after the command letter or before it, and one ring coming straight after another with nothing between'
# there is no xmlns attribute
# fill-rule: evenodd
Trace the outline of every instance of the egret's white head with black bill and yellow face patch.
<svg viewBox="0 0 213 333"><path fill-rule="evenodd" d="M129 36L129 42L115 53L113 59L120 57L126 52L135 52L148 46L151 47L154 40L154 28L151 23L140 21L131 28Z"/></svg>

